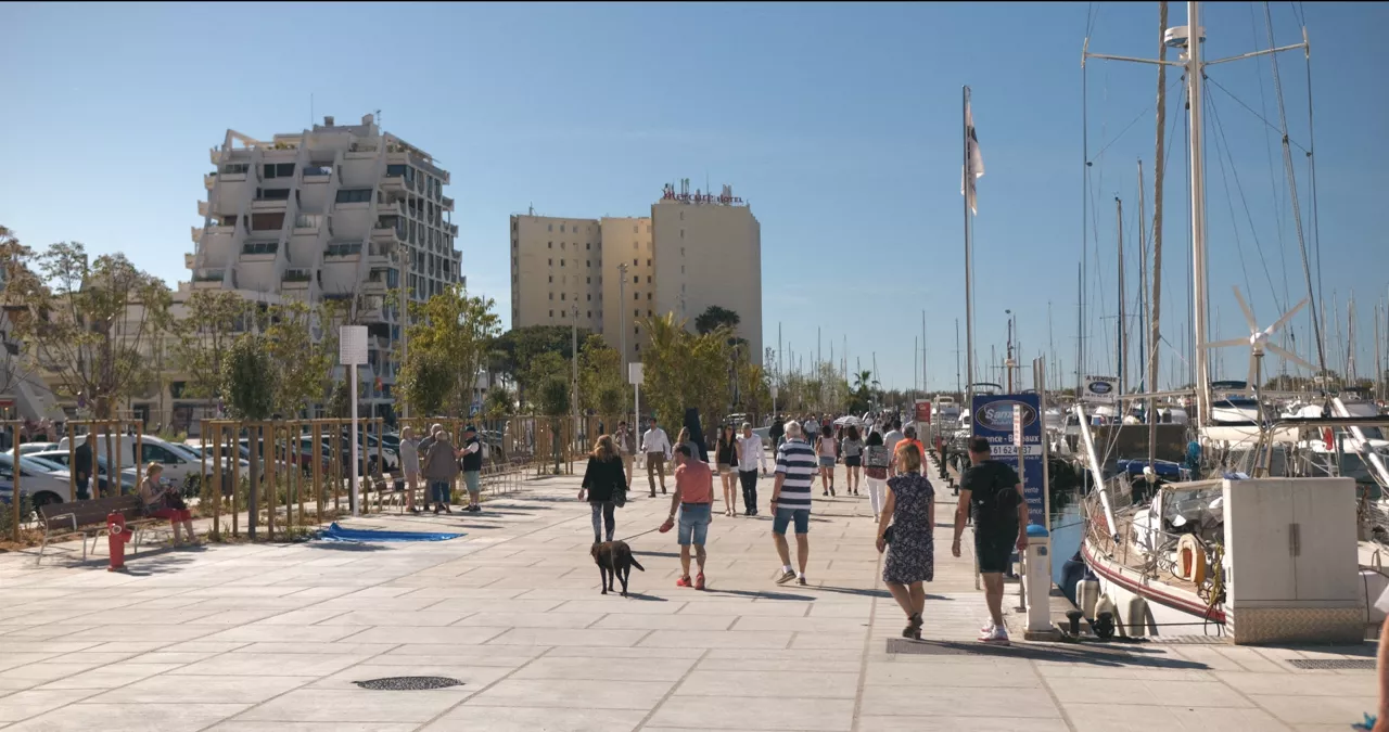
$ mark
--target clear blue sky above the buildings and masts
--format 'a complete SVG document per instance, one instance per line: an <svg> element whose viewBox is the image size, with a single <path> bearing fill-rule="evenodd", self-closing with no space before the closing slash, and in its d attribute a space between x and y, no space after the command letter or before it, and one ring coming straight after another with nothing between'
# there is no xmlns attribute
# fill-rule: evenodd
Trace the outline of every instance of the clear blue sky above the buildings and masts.
<svg viewBox="0 0 1389 732"><path fill-rule="evenodd" d="M1299 40L1293 6L1272 10L1278 43ZM1004 308L1020 314L1024 354L1046 350L1050 304L1050 338L1070 372L1088 13L1063 3L4 4L0 222L31 244L81 240L125 251L171 283L186 279L208 147L226 128L268 138L307 126L313 94L319 118L379 108L386 129L453 172L464 274L503 318L508 214L533 204L550 215L644 215L664 183L685 176L703 188L707 176L731 183L761 221L768 344L781 322L806 357L820 326L826 356L847 336L850 369L876 351L883 382L911 386L925 308L931 386L953 386L968 83L988 168L975 229L978 350L988 360L1001 346ZM1156 3L1101 3L1096 13L1092 51L1156 54ZM1171 13L1172 25L1185 22L1183 3ZM1364 375L1372 303L1389 283L1389 8L1317 3L1306 15L1322 283L1342 307L1357 293ZM1204 25L1208 56L1267 44L1261 4L1210 6ZM1279 71L1292 138L1306 146L1301 54L1282 56ZM1276 124L1267 61L1213 67L1210 76ZM1092 63L1088 286L1104 301L1092 310L1099 353L1088 371L1113 368L1113 199L1136 210L1135 161L1151 167L1154 93L1153 67ZM1275 299L1296 301L1306 289L1276 135L1225 92L1210 97L1220 118L1207 128L1213 338L1232 338L1247 331L1231 285L1247 278L1261 325L1278 315ZM1181 114L1179 93L1170 99L1168 114ZM1181 146L1175 129L1170 143ZM1229 193L1218 164L1226 146L1240 183L1231 175ZM1175 150L1168 168L1164 331L1185 351L1182 156ZM1300 151L1295 163L1306 219ZM1136 225L1126 219L1132 251ZM1128 281L1132 293L1132 268ZM1310 342L1307 319L1297 326L1299 342ZM1164 349L1164 371L1174 353ZM1222 361L1243 375L1242 353Z"/></svg>

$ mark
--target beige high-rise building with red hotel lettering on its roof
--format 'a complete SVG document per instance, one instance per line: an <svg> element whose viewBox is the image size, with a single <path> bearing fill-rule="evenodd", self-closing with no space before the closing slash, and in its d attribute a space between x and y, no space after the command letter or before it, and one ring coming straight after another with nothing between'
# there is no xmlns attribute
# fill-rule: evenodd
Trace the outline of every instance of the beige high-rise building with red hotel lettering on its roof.
<svg viewBox="0 0 1389 732"><path fill-rule="evenodd" d="M569 325L579 306L578 326L625 343L629 361L642 358L642 318L675 313L693 329L710 306L738 313L760 361L761 281L761 225L728 186L665 186L649 218L511 217L513 328Z"/></svg>

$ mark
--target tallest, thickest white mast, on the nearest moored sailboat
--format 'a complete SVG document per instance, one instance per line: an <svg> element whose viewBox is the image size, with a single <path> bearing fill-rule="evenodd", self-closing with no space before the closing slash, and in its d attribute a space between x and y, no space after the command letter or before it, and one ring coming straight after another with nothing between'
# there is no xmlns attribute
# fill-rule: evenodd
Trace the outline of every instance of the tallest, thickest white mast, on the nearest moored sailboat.
<svg viewBox="0 0 1389 732"><path fill-rule="evenodd" d="M1210 424L1211 418L1210 349L1206 347L1206 343L1210 342L1206 333L1208 324L1206 306L1210 300L1206 297L1206 150L1201 118L1204 104L1201 39L1206 32L1200 22L1200 3L1195 0L1186 3L1186 26L1188 33L1190 33L1186 39L1186 99L1192 128L1189 150L1192 161L1192 304L1196 311L1196 322L1192 325L1196 349L1192 357L1196 360L1196 424L1204 426Z"/></svg>

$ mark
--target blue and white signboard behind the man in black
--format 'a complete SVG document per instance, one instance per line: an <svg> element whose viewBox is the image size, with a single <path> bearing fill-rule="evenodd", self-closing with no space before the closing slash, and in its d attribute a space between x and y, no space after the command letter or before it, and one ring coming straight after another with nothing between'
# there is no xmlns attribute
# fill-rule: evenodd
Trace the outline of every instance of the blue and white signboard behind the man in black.
<svg viewBox="0 0 1389 732"><path fill-rule="evenodd" d="M1008 463L1022 478L1022 494L1028 500L1028 524L1047 525L1046 483L1042 464L1042 415L1038 394L979 394L974 397L975 438L989 440L995 460ZM1018 444L1014 425L1021 426ZM1018 454L1022 467L1018 469Z"/></svg>

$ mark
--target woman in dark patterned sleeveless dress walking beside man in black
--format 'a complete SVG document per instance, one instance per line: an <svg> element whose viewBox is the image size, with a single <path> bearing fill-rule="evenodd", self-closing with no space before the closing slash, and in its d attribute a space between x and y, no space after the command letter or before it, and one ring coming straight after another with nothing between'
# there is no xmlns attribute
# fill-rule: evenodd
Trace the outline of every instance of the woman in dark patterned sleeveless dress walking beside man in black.
<svg viewBox="0 0 1389 732"><path fill-rule="evenodd" d="M936 501L931 481L921 475L921 450L903 444L897 464L904 472L888 481L888 497L878 519L878 551L888 550L882 581L907 614L903 638L921 639L921 611L926 606L922 582L935 579ZM885 538L889 522L892 542Z"/></svg>

